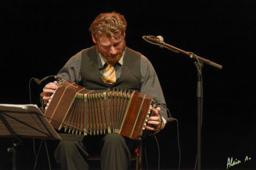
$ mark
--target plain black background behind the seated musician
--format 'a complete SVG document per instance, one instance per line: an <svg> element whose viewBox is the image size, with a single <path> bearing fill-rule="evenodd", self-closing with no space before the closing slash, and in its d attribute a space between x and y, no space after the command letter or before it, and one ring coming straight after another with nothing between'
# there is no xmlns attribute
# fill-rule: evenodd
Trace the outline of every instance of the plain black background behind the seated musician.
<svg viewBox="0 0 256 170"><path fill-rule="evenodd" d="M254 1L1 1L0 103L29 104L29 80L55 75L79 50L93 45L89 26L101 12L117 11L128 23L126 44L147 56L161 82L166 103L179 121L156 135L162 169L193 169L197 150L197 71L194 61L147 43L143 35L162 35L167 44L223 65L203 66L202 169L255 169L255 31ZM31 102L39 105L41 85L31 81ZM145 140L149 168L157 167L153 137ZM41 140L35 140L36 150ZM46 141L52 168L57 141ZM11 169L0 139L0 169ZM248 156L251 160L244 162ZM19 169L33 169L33 140L18 147ZM144 162L145 163L145 162ZM145 165L145 164L144 164ZM42 146L37 169L47 169Z"/></svg>

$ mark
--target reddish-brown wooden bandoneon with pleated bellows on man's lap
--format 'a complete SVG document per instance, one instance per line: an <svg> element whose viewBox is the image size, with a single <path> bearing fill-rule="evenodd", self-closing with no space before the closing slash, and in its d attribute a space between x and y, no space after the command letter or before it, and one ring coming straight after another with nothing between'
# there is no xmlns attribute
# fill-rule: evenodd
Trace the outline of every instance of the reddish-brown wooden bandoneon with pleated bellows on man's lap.
<svg viewBox="0 0 256 170"><path fill-rule="evenodd" d="M125 89L87 90L60 80L45 107L53 128L73 134L118 133L139 139L146 132L153 97Z"/></svg>

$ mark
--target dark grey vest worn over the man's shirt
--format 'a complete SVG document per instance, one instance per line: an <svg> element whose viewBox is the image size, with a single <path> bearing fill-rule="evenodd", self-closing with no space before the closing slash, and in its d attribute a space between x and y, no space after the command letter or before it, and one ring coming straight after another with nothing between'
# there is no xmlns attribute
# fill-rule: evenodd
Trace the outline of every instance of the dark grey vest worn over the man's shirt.
<svg viewBox="0 0 256 170"><path fill-rule="evenodd" d="M140 57L141 54L127 48L120 78L114 84L102 81L96 46L82 50L81 77L82 85L89 90L131 89L140 91Z"/></svg>

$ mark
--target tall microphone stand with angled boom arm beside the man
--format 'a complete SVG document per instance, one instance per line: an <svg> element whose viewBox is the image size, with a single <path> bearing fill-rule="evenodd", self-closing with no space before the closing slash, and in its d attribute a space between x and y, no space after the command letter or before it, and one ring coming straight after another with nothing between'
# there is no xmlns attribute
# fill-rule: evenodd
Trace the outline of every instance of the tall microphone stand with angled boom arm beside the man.
<svg viewBox="0 0 256 170"><path fill-rule="evenodd" d="M186 52L184 50L181 50L179 48L173 47L169 44L164 43L161 40L158 39L148 39L146 36L142 37L146 41L148 41L151 44L158 45L159 47L165 47L167 49L172 50L176 53L182 53L185 55L188 55L190 58L193 58L196 60L195 66L197 70L197 170L201 170L201 129L202 129L202 115L203 115L203 86L202 86L202 67L203 64L208 64L214 67L217 67L218 69L222 69L222 65L219 65L217 63L214 63L210 60L206 60L203 57L199 57L191 52Z"/></svg>

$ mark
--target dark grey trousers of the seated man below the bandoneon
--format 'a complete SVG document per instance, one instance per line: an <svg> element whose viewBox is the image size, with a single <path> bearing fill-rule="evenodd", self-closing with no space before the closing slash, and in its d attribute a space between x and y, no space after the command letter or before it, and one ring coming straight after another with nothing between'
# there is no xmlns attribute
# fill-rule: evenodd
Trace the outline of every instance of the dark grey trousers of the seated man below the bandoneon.
<svg viewBox="0 0 256 170"><path fill-rule="evenodd" d="M96 146L100 150L101 169L115 170L128 169L131 162L130 149L134 145L127 147L126 140L122 135L110 133L102 136L98 141L90 142L90 146L85 147L86 138L83 142L78 140L62 140L55 150L54 157L62 170L89 169L86 158L90 154L90 148ZM135 142L135 141L133 141ZM131 141L129 141L131 143Z"/></svg>

